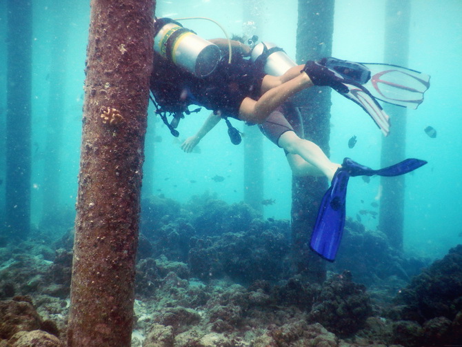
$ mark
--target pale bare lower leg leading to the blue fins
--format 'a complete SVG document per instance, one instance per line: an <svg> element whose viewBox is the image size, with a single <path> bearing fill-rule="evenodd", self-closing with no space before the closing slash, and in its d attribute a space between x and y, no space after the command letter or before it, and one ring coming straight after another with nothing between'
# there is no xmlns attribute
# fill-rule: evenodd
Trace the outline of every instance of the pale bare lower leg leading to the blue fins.
<svg viewBox="0 0 462 347"><path fill-rule="evenodd" d="M301 139L293 131L284 132L279 137L278 144L290 154L299 155L312 166L319 169L325 177L328 177L329 181L332 181L335 171L341 166L338 163L330 161L316 143Z"/></svg>

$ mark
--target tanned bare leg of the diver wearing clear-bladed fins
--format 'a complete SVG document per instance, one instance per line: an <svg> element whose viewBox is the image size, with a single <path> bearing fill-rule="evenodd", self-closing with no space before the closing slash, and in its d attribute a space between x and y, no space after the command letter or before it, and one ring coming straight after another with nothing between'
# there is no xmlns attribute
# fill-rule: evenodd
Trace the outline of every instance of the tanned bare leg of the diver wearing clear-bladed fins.
<svg viewBox="0 0 462 347"><path fill-rule="evenodd" d="M272 76L266 75L263 78L262 86L268 79L272 79ZM297 77L265 92L258 101L246 97L239 107L239 119L252 123L263 123L270 113L281 106L289 97L312 86L310 77L305 73L299 73Z"/></svg>

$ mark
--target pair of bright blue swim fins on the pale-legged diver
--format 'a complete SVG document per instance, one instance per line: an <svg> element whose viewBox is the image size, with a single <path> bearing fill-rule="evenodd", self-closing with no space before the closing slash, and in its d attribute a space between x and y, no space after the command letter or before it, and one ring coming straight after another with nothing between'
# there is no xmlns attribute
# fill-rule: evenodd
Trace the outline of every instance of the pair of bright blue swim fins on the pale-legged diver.
<svg viewBox="0 0 462 347"><path fill-rule="evenodd" d="M387 168L373 170L350 158L343 159L341 168L335 172L332 184L321 201L311 235L310 248L328 261L335 260L345 226L345 200L350 177L399 176L420 168L426 163L427 161L420 159L405 159Z"/></svg>

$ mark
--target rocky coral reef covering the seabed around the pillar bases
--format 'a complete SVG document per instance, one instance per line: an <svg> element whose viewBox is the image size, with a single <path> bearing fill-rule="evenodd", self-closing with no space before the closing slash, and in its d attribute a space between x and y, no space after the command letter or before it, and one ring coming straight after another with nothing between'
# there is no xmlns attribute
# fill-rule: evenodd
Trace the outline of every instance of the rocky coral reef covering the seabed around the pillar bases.
<svg viewBox="0 0 462 347"><path fill-rule="evenodd" d="M152 197L141 212L133 347L462 344L462 246L419 275L425 259L349 220L339 261L315 284L291 270L289 221L213 195ZM0 346L66 340L66 229L0 244Z"/></svg>

